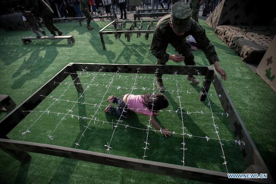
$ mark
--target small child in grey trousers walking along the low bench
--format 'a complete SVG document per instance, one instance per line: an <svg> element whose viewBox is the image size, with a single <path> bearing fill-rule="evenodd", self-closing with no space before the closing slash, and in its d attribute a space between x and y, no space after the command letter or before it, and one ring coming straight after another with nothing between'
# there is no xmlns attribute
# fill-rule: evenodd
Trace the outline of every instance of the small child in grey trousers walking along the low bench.
<svg viewBox="0 0 276 184"><path fill-rule="evenodd" d="M38 21L34 16L28 17L27 16L28 12L24 11L22 6L17 6L17 10L19 10L23 14L23 21L24 21L25 28L27 27L26 22L28 22L29 25L31 26L31 30L33 31L33 33L36 34L36 38L41 38L38 31L42 33L44 36L46 35L45 31L40 29L39 25L37 24Z"/></svg>

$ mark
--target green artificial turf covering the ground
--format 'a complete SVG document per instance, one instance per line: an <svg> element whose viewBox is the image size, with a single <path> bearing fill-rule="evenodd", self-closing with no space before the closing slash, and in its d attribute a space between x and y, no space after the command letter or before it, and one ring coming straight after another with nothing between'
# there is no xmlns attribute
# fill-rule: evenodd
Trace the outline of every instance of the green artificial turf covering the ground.
<svg viewBox="0 0 276 184"><path fill-rule="evenodd" d="M32 43L23 45L21 37L33 36L31 31L11 31L5 32L1 30L1 94L8 94L19 105L31 94L33 94L40 86L47 82L52 76L60 71L70 62L79 63L129 63L129 64L154 64L156 59L151 55L149 48L152 34L149 40L144 40L144 34L140 38L136 35L132 36L131 42L126 42L124 35L121 39L115 40L114 35L104 35L106 51L102 50L102 44L98 31L107 25L108 21L92 22L94 30L87 31L84 26L80 27L78 22L74 23L56 23L64 35L73 35L75 42L67 45L67 40L33 40ZM200 20L201 25L205 27L206 34L215 44L217 54L220 58L220 65L228 74L228 80L224 81L224 86L230 95L237 111L240 114L251 138L257 146L261 156L263 157L267 167L271 173L275 172L275 104L276 96L273 90L258 77L245 63L243 63L232 49L228 48L222 42L213 30ZM146 27L144 25L144 27ZM45 29L45 28L44 28ZM106 30L112 30L112 27ZM46 30L46 33L49 33ZM174 54L174 48L168 47L167 52ZM195 61L197 65L208 65L208 61L201 50L194 51ZM178 64L172 61L167 64ZM123 74L121 74L123 75ZM106 122L114 122L118 118L111 114L103 112L104 107L98 109L97 106L87 103L100 103L108 105L106 98L108 95L114 94L120 96L129 93L129 89L119 89L116 86L131 88L133 85L132 75L125 74L125 77L115 76L113 84L106 92L105 86L90 86L86 89L86 84L91 82L93 73L90 75L80 75L86 92L83 98L80 98L76 92L74 85L68 88L61 99L80 103L72 103L67 101L59 101L54 103L49 110L50 113L44 113L39 119L41 112L30 113L16 128L9 134L10 139L24 140L37 143L47 143L59 146L75 148L75 143L79 141L77 148L89 151L106 152L104 146L110 142L113 130L112 125ZM150 79L138 80L137 86L152 88L154 75L138 75L139 77L150 77ZM100 83L109 84L110 75L99 75L91 84ZM165 86L168 90L177 90L176 78L178 79L178 87L181 91L189 90L191 94L180 92L182 96L181 105L183 111L188 112L206 112L205 114L191 113L183 114L185 123L185 132L194 136L208 136L217 138L214 133L213 122L208 106L208 100L205 102L198 101L200 88L191 85L188 81L183 80L180 75L164 75L164 77L174 78L174 80L165 80ZM201 77L201 80L203 77ZM68 82L65 84L65 82ZM68 77L60 84L49 96L59 98L67 89L69 83L72 82ZM95 90L96 88L96 90ZM151 93L152 90L135 90L134 94ZM210 93L215 94L213 86ZM104 95L105 94L105 95ZM169 101L169 107L166 110L177 110L179 100L176 92L165 93ZM219 103L217 96L213 95L209 98L213 112L221 113L223 109ZM46 99L34 111L45 111L52 103L53 99ZM85 102L86 104L82 104ZM75 104L75 106L74 106ZM67 109L72 109L75 116L91 118L95 116L100 121L91 121L89 127L85 131L85 127L89 123L89 119L71 118L66 116L66 120L61 121L62 116L56 113L67 113ZM0 118L6 116L7 113L1 113ZM225 115L215 114L215 124L218 125L219 135L221 139L234 140L230 126ZM38 119L38 120L37 120ZM171 131L182 131L182 117L180 114L162 112L156 118L158 122ZM36 121L37 120L37 121ZM102 123L105 121L105 123ZM60 122L60 123L59 123ZM148 125L148 117L136 113L132 113L128 120L122 122L124 125L136 128L146 129ZM31 126L32 125L32 126ZM25 132L30 127L30 132L25 136L21 136L21 132ZM85 131L85 132L84 132ZM81 137L84 132L84 137ZM48 134L54 138L50 140ZM115 130L111 141L111 154L128 156L141 159L144 155L144 141L147 137L145 130L125 128L118 126ZM165 138L158 132L149 132L148 142L150 149L146 151L147 160L173 163L181 165L183 150L181 143L183 136L173 135ZM225 172L225 166L222 164L222 152L217 140L185 136L186 148L185 160L186 166L209 169L214 171ZM228 170L231 173L242 172L245 168L245 162L239 151L238 146L232 141L223 141L226 161L228 161ZM83 161L59 158L55 156L41 155L30 153L32 160L29 164L21 164L4 151L0 151L0 171L1 181L4 183L190 183L194 181L167 177L158 174L149 174L140 171L132 171L116 167L104 166ZM198 183L198 182L194 182Z"/></svg>

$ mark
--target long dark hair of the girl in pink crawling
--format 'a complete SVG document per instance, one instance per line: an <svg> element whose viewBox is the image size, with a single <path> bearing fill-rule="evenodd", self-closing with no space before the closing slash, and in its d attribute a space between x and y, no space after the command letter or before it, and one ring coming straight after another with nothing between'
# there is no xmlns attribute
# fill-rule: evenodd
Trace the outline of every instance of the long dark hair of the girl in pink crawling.
<svg viewBox="0 0 276 184"><path fill-rule="evenodd" d="M161 93L147 93L142 94L142 98L144 99L144 102L141 103L144 104L145 107L148 107L148 109L152 109L153 111L159 111L161 109L165 109L168 107L169 103L165 95ZM153 102L153 105L152 105Z"/></svg>

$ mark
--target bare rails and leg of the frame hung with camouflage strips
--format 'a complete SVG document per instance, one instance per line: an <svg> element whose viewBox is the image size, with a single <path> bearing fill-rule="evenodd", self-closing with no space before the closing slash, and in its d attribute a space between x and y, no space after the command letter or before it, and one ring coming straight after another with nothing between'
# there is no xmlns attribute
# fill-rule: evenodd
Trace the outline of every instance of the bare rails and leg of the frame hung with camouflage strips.
<svg viewBox="0 0 276 184"><path fill-rule="evenodd" d="M145 22L158 22L159 20L143 20L143 23L145 23ZM101 41L102 41L102 48L103 48L103 50L106 50L105 49L105 41L104 41L104 39L103 39L103 35L104 34L116 34L116 33L121 33L121 34L123 34L123 33L153 33L154 32L154 30L133 30L133 31L104 31L107 27L109 27L110 25L114 25L114 30L115 29L117 29L117 23L123 23L123 22L125 22L125 23L132 23L132 22L134 22L134 23L136 23L136 22L141 22L141 21L112 21L112 22L110 22L108 25L106 25L103 29L101 29L100 31L99 31L99 34L100 34L100 37L101 37Z"/></svg>

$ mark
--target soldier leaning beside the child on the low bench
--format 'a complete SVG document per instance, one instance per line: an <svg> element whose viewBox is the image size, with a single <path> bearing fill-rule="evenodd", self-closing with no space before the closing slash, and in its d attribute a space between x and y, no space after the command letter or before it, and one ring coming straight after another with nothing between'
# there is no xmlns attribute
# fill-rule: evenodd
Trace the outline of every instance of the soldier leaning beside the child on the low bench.
<svg viewBox="0 0 276 184"><path fill-rule="evenodd" d="M62 31L60 31L53 22L53 10L44 2L43 0L30 0L30 4L32 5L31 10L27 13L27 16L30 17L32 14L41 14L45 27L50 31L54 36L56 32L59 36L62 35Z"/></svg>

